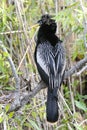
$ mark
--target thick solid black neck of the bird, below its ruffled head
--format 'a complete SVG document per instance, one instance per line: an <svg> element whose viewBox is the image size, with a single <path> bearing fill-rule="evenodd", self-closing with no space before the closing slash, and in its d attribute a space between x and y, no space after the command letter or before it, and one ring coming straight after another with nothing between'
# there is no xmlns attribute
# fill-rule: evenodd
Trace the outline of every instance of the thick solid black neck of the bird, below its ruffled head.
<svg viewBox="0 0 87 130"><path fill-rule="evenodd" d="M50 27L40 27L38 31L38 43L49 41L52 46L55 46L60 39L55 35L56 30L52 31Z"/></svg>

